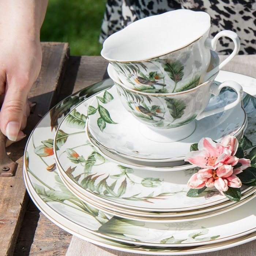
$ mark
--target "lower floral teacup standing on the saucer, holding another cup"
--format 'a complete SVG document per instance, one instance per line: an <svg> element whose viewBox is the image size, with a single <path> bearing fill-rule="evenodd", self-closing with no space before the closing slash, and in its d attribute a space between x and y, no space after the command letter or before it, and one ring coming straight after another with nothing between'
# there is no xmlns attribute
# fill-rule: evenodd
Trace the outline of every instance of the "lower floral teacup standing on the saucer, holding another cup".
<svg viewBox="0 0 256 256"><path fill-rule="evenodd" d="M130 89L118 79L112 65L108 65L108 74L128 112L153 129L154 136L157 131L161 136L173 137L175 140L186 138L194 131L195 119L200 120L234 108L241 102L243 95L241 85L236 82L215 84L213 81L217 74L193 89L165 94L143 93ZM236 91L237 99L225 106L205 111L211 95L218 96L223 87Z"/></svg>

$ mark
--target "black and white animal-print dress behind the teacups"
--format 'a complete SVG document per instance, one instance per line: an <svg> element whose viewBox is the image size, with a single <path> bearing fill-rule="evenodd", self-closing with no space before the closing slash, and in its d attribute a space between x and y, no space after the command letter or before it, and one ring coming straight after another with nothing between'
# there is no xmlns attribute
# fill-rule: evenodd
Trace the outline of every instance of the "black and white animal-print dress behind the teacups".
<svg viewBox="0 0 256 256"><path fill-rule="evenodd" d="M239 54L256 54L255 0L108 0L99 41L103 43L135 20L180 8L207 12L211 16L210 37L221 30L232 30L241 40ZM232 51L230 39L221 38L217 52Z"/></svg>

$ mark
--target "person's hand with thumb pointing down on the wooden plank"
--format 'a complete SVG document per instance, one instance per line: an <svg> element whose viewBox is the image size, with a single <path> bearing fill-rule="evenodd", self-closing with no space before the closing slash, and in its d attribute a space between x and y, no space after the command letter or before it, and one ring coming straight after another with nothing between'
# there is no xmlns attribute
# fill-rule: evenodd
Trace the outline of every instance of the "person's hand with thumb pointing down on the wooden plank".
<svg viewBox="0 0 256 256"><path fill-rule="evenodd" d="M41 69L40 42L6 39L0 41L0 128L9 140L24 137L30 113L27 95Z"/></svg>

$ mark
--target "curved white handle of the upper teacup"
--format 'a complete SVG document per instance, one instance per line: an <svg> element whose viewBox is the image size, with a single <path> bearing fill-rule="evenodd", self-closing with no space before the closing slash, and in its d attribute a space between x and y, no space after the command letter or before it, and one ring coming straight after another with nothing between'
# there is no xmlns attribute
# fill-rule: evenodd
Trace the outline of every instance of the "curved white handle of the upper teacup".
<svg viewBox="0 0 256 256"><path fill-rule="evenodd" d="M217 42L221 37L229 37L234 42L234 50L233 52L223 60L217 67L213 68L211 71L206 73L206 80L208 80L212 75L219 71L219 69L223 68L230 60L232 60L238 53L240 49L240 39L237 33L230 30L222 30L214 38L207 38L205 41L205 46L210 48L211 50L216 50Z"/></svg>

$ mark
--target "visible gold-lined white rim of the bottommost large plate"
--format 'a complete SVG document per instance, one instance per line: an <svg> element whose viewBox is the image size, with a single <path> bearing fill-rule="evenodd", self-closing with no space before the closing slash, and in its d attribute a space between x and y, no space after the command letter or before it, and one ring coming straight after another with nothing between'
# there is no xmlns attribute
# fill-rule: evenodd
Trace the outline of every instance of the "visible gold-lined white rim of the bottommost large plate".
<svg viewBox="0 0 256 256"><path fill-rule="evenodd" d="M104 246L106 248L115 249L118 251L139 253L147 255L192 255L195 253L207 253L212 251L218 251L221 249L230 248L246 242L250 242L256 239L256 231L247 235L226 240L223 242L216 242L208 245L196 245L192 247L154 247L154 246L138 246L128 243L122 243L109 238L97 236L96 234L90 233L76 222L70 221L67 217L60 214L60 212L54 210L49 204L45 203L44 200L34 191L27 182L26 174L24 175L25 184L27 191L35 205L39 210L52 221L54 224L64 229L65 231L79 237L83 240L89 241L93 244Z"/></svg>

